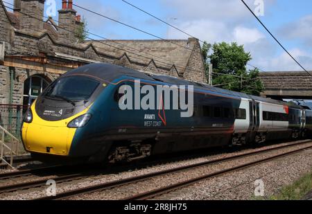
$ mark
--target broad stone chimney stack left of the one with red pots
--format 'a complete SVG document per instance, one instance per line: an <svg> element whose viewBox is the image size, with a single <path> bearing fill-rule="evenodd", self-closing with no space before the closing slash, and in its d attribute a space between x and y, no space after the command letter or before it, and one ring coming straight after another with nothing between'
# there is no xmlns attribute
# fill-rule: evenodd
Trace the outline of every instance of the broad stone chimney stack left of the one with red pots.
<svg viewBox="0 0 312 214"><path fill-rule="evenodd" d="M43 30L45 0L17 0L16 7L20 3L20 28L25 28L28 32L37 33ZM18 10L18 8L17 8Z"/></svg>

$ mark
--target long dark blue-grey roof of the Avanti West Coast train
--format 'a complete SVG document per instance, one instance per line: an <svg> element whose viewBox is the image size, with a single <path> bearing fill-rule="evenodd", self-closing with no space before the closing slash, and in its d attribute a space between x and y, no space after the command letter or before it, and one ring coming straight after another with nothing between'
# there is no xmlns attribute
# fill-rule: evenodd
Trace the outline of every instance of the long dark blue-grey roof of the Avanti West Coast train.
<svg viewBox="0 0 312 214"><path fill-rule="evenodd" d="M151 75L149 73L135 71L133 69L128 69L123 66L118 66L114 64L106 64L106 63L87 64L85 66L80 66L78 69L73 69L71 71L68 71L67 73L64 73L62 77L66 77L68 75L75 75L75 74L91 75L91 76L94 76L95 78L100 78L108 82L112 82L113 80L116 80L117 78L121 78L121 76L123 75L128 75L132 78L139 78L139 79L150 80L150 81L159 81L159 82L165 82L168 84L176 84L176 85L191 84L194 86L194 89L208 90L208 91L222 93L222 94L229 95L229 96L259 100L262 102L269 102L269 103L273 103L277 105L287 105L289 107L300 108L300 109L302 108L300 105L295 105L292 102L283 102L279 100L272 100L270 98L252 96L246 93L229 91L226 89L212 87L212 86L209 86L208 84L182 80L180 78L175 78L175 77L171 77L168 75Z"/></svg>

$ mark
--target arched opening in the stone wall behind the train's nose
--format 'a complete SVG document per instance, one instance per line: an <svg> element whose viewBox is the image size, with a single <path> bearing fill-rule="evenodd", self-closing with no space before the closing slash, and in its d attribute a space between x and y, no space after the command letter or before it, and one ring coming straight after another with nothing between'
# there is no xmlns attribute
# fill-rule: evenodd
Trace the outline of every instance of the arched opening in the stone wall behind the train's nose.
<svg viewBox="0 0 312 214"><path fill-rule="evenodd" d="M30 106L40 93L50 84L40 75L33 75L24 82L23 105Z"/></svg>

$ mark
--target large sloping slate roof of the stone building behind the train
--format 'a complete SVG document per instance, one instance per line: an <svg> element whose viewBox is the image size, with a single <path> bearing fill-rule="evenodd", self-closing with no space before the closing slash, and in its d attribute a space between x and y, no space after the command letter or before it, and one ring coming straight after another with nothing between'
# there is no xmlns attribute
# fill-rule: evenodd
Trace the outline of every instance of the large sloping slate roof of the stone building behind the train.
<svg viewBox="0 0 312 214"><path fill-rule="evenodd" d="M90 42L86 43L89 44ZM110 55L120 56L123 55L123 53L125 53L124 50L126 50L128 57L135 59L141 64L149 64L150 58L153 58L157 66L171 69L174 65L177 72L183 75L189 58L191 57L192 50L196 45L196 40L100 40L99 42L92 43L100 51L103 49L105 53ZM112 46L117 46L121 49L116 49Z"/></svg>

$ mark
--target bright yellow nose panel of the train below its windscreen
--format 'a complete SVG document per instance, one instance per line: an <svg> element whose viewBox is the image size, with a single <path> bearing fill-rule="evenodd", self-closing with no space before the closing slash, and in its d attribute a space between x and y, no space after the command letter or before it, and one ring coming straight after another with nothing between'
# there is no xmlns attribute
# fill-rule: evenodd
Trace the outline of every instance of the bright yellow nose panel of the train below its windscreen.
<svg viewBox="0 0 312 214"><path fill-rule="evenodd" d="M88 109L61 121L44 121L37 116L34 103L31 107L32 121L24 122L21 130L24 147L28 152L68 156L77 128L67 125L86 114Z"/></svg>

